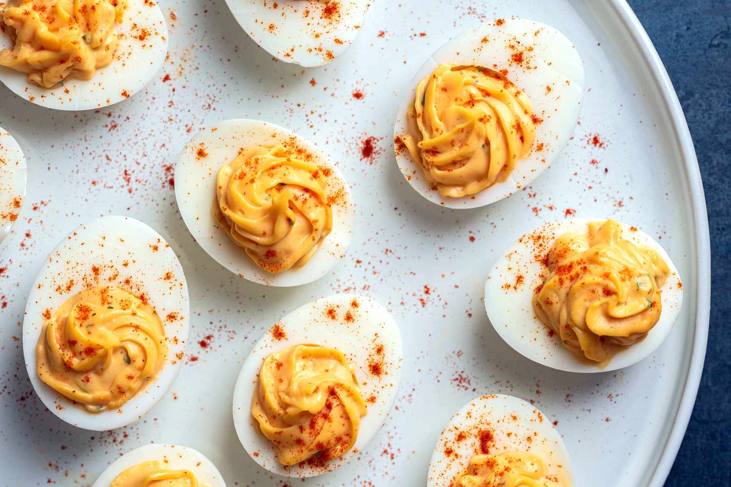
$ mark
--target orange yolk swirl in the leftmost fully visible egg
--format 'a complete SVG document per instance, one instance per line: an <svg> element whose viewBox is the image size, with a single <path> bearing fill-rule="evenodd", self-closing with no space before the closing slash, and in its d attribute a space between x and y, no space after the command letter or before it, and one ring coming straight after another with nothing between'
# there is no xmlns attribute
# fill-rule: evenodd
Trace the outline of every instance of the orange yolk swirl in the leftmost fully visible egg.
<svg viewBox="0 0 731 487"><path fill-rule="evenodd" d="M120 407L154 379L167 356L148 302L112 286L68 299L42 328L38 377L91 413Z"/></svg>

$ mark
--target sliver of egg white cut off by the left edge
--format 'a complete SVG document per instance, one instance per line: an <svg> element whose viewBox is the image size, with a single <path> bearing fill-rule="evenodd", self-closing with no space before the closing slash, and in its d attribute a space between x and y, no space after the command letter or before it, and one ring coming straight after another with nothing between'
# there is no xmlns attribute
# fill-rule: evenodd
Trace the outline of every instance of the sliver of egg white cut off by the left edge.
<svg viewBox="0 0 731 487"><path fill-rule="evenodd" d="M26 156L15 139L0 127L0 242L18 221L26 199Z"/></svg>

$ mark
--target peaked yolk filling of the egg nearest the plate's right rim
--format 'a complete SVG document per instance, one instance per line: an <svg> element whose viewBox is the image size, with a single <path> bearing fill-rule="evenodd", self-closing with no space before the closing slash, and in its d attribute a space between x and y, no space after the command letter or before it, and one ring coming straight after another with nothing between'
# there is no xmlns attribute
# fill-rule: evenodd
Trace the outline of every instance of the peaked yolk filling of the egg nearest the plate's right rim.
<svg viewBox="0 0 731 487"><path fill-rule="evenodd" d="M622 238L618 222L561 235L546 262L533 307L572 352L603 361L611 345L632 345L659 321L670 269L654 250Z"/></svg>

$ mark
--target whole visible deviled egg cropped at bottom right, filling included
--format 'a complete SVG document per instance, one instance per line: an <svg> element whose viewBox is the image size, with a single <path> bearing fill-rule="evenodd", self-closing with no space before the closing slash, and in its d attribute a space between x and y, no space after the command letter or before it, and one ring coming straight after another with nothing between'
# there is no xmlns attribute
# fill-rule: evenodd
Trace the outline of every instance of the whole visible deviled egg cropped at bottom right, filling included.
<svg viewBox="0 0 731 487"><path fill-rule="evenodd" d="M429 462L427 487L572 487L561 435L513 396L474 399L450 418Z"/></svg>

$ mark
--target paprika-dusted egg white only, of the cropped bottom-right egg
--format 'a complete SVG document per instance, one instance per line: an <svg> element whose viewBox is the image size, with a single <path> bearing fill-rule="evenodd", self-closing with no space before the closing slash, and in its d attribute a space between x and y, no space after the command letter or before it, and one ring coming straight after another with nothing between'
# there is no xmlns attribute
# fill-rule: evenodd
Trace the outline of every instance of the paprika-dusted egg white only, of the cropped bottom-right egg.
<svg viewBox="0 0 731 487"><path fill-rule="evenodd" d="M431 455L427 487L451 487L469 459L485 453L482 446L491 455L517 451L540 456L547 475L555 475L561 487L574 485L569 453L550 418L522 399L491 394L470 401L450 418Z"/></svg>

